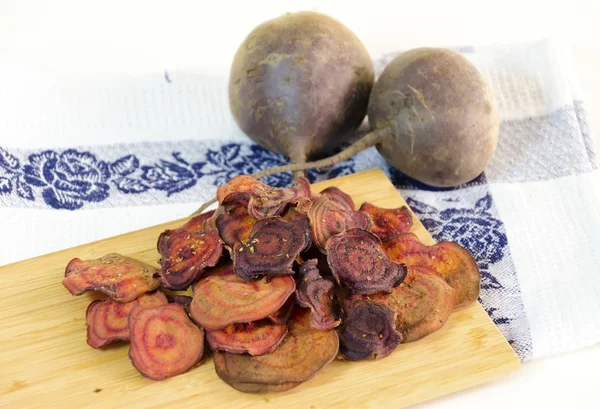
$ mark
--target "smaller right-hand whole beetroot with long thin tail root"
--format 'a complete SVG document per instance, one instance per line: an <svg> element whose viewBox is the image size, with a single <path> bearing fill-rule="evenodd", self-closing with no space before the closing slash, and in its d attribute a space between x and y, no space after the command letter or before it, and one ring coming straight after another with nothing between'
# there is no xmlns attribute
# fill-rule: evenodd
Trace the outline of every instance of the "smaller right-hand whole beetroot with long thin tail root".
<svg viewBox="0 0 600 409"><path fill-rule="evenodd" d="M441 48L410 50L389 63L371 92L368 117L371 132L342 152L253 176L331 166L376 146L418 181L458 186L483 172L498 142L498 106L489 85L465 57Z"/></svg>

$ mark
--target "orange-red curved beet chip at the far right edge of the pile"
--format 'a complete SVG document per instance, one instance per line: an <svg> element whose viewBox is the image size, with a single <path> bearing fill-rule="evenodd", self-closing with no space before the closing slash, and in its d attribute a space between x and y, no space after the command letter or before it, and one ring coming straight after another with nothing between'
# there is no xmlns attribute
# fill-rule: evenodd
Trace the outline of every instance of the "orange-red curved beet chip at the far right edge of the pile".
<svg viewBox="0 0 600 409"><path fill-rule="evenodd" d="M481 275L467 250L450 241L426 246L412 233L400 234L383 242L392 260L427 267L442 277L457 292L457 307L471 304L479 297Z"/></svg>

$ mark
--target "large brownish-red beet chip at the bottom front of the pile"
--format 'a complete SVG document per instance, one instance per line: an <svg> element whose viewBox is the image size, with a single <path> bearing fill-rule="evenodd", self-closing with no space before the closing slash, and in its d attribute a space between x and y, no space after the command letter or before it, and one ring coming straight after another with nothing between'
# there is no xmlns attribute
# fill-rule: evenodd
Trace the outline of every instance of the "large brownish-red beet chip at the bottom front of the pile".
<svg viewBox="0 0 600 409"><path fill-rule="evenodd" d="M308 309L296 308L287 335L268 354L216 352L217 375L242 392L283 391L313 378L335 358L339 341L333 330L312 328L309 316Z"/></svg>

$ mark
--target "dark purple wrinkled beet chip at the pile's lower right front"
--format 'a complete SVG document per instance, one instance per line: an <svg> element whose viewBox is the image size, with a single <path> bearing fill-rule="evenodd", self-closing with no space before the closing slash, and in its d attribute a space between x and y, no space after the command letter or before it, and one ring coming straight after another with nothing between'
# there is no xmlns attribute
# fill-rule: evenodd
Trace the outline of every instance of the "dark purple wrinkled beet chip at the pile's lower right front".
<svg viewBox="0 0 600 409"><path fill-rule="evenodd" d="M340 353L349 361L384 358L402 341L396 314L384 304L356 301L339 327Z"/></svg>

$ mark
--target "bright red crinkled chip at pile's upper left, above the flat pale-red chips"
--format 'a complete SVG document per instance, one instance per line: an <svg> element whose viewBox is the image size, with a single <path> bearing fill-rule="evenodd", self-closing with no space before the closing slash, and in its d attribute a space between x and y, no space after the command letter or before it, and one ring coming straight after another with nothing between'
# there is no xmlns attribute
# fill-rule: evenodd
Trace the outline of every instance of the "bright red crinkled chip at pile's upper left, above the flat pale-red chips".
<svg viewBox="0 0 600 409"><path fill-rule="evenodd" d="M216 229L189 232L178 229L158 239L163 285L170 290L185 290L204 272L217 264L223 243Z"/></svg>

